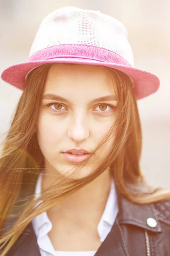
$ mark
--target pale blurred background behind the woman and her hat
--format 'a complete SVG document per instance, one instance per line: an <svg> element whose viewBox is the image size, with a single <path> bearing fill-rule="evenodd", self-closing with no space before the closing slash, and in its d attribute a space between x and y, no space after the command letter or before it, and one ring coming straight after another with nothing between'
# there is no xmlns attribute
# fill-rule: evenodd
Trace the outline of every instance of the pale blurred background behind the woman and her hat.
<svg viewBox="0 0 170 256"><path fill-rule="evenodd" d="M159 90L138 101L141 167L151 184L170 188L170 0L0 0L0 73L28 59L42 19L64 6L99 10L120 20L128 31L135 66L159 76ZM0 141L21 94L0 79Z"/></svg>

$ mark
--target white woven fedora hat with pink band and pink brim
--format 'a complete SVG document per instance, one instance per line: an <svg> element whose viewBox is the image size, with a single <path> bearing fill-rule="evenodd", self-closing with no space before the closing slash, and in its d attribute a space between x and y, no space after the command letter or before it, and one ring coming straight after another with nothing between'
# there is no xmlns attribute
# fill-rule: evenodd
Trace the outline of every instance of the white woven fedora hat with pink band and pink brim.
<svg viewBox="0 0 170 256"><path fill-rule="evenodd" d="M122 23L98 11L64 7L52 12L42 20L28 61L6 68L1 77L24 90L28 73L46 63L90 64L120 70L133 81L136 99L159 88L156 75L134 67Z"/></svg>

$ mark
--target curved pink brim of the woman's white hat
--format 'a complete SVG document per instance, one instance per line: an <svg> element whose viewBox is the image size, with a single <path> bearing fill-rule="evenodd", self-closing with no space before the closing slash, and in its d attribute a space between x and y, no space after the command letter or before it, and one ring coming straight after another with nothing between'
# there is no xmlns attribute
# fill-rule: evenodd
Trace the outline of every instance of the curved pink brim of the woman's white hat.
<svg viewBox="0 0 170 256"><path fill-rule="evenodd" d="M26 62L15 64L15 65L12 65L11 67L6 68L1 74L1 78L4 81L8 82L9 84L12 84L15 87L19 88L20 90L23 90L26 87L26 75L34 68L47 63L51 63L51 64L52 63L74 63L74 64L105 66L105 67L111 67L111 68L122 71L123 73L130 76L130 78L133 80L134 94L136 96L136 99L142 99L144 97L149 96L152 93L155 93L158 90L159 84L160 84L159 78L156 75L148 71L128 65L125 59L123 60L125 64L122 64L122 59L118 64L118 63L113 63L113 61L112 62L106 61L106 59L104 61L97 61L94 59L90 59L89 57L80 58L80 56L77 56L77 57L63 56L58 58L52 58L51 56L48 59L42 58L40 60L34 60L34 58L35 56L33 56L33 58L31 57ZM117 62L117 58L118 57L116 55L115 62Z"/></svg>

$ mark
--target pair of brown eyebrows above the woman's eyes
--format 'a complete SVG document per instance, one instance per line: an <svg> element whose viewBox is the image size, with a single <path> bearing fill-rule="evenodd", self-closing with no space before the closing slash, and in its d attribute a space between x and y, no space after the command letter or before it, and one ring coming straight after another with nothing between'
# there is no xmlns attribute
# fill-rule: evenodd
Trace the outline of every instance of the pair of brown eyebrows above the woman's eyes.
<svg viewBox="0 0 170 256"><path fill-rule="evenodd" d="M51 100L64 101L64 102L70 103L68 99L62 98L61 96L53 94L53 93L47 93L47 94L43 95L42 99L51 99ZM101 101L117 101L117 99L116 99L115 95L108 95L108 96L102 96L102 97L93 99L93 100L91 100L90 103L97 103L97 102L101 102Z"/></svg>

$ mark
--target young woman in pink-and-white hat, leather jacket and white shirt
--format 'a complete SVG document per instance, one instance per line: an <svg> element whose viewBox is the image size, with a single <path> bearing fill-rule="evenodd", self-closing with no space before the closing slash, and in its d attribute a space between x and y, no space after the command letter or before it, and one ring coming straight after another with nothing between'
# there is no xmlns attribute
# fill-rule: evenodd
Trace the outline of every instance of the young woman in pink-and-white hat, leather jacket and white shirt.
<svg viewBox="0 0 170 256"><path fill-rule="evenodd" d="M57 9L1 77L23 94L0 159L0 256L170 255L170 192L139 167L136 100L159 79L134 67L122 23Z"/></svg>

